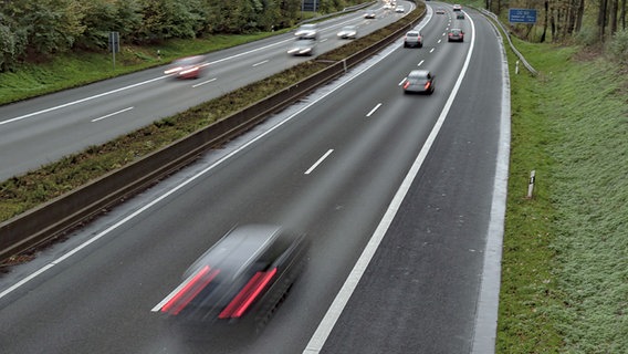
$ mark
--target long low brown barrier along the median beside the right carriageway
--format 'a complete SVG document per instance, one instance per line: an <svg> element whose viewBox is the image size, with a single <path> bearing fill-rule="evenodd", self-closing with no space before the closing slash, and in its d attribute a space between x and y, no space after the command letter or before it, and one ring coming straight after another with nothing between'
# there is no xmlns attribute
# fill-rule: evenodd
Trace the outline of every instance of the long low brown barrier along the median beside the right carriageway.
<svg viewBox="0 0 628 354"><path fill-rule="evenodd" d="M24 252L81 226L104 209L137 194L195 160L205 150L220 145L294 103L314 88L342 75L379 52L414 28L422 18L400 28L374 45L302 80L262 101L231 114L144 158L112 171L74 191L29 210L0 225L0 260Z"/></svg>

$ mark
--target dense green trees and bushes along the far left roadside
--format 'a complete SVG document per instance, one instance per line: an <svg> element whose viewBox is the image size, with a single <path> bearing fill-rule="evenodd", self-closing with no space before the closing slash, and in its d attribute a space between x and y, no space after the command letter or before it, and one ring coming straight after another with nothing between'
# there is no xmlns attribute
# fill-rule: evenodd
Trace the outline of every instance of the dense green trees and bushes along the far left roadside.
<svg viewBox="0 0 628 354"><path fill-rule="evenodd" d="M320 0L335 12L367 0ZM147 44L294 25L302 0L0 0L0 72L71 50L106 50L109 32Z"/></svg>

